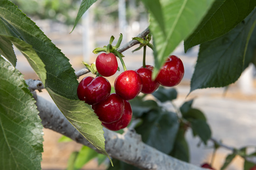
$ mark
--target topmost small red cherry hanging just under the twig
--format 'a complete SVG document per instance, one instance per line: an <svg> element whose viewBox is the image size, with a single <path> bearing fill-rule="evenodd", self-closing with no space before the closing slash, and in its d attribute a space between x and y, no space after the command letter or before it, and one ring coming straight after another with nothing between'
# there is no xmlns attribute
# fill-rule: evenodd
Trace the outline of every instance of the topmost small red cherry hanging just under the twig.
<svg viewBox="0 0 256 170"><path fill-rule="evenodd" d="M117 59L113 53L101 53L96 58L95 65L102 76L112 76L118 68Z"/></svg>

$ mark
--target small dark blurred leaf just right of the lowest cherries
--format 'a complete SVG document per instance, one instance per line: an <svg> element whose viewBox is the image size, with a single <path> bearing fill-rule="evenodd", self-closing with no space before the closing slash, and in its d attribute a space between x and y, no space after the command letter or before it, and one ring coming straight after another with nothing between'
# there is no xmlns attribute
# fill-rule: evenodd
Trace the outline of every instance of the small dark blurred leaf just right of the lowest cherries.
<svg viewBox="0 0 256 170"><path fill-rule="evenodd" d="M158 104L153 100L143 101L141 98L136 97L129 102L131 103L134 117L141 117L143 113L159 109Z"/></svg>

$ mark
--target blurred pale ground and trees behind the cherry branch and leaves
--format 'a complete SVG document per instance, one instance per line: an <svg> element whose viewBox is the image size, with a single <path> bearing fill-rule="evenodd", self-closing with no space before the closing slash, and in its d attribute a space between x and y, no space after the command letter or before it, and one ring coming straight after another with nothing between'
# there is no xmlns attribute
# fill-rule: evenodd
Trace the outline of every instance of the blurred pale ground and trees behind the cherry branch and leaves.
<svg viewBox="0 0 256 170"><path fill-rule="evenodd" d="M139 0L97 0L80 19L74 31L76 15L81 0L11 0L18 5L28 17L47 35L49 39L70 59L75 71L84 68L82 61L95 62L97 57L92 51L97 47L103 47L109 43L111 35L115 42L119 34L123 34L124 43L132 40L137 34L148 27L148 16L143 4ZM134 46L123 52L127 69L135 70L142 66L143 51L132 51ZM178 99L175 103L180 106L184 101L195 98L194 107L202 110L209 122L212 136L222 140L224 144L240 148L256 144L256 68L250 65L239 80L229 85L228 88L200 89L190 93L190 78L193 75L199 47L193 47L184 53L183 42L172 53L183 61L185 75L180 85L175 88L178 91ZM38 79L33 69L28 66L27 60L15 50L18 63L17 69L25 79ZM153 65L152 50L148 48L146 64ZM120 72L108 77L114 85L115 77ZM86 76L92 76L90 73ZM80 81L84 76L81 76ZM48 100L46 90L38 93ZM59 143L61 137L56 132L44 129L44 153L42 161L43 170L65 170L67 161L73 151L79 151L81 144L75 142ZM200 165L211 161L212 143L208 146L199 144L199 138L193 138L191 131L187 133L190 145L190 162ZM253 152L254 150L252 150ZM217 151L213 167L217 170L224 163L231 151L221 148ZM83 170L105 170L107 162L97 165L97 160L92 160L83 167ZM243 160L236 157L228 166L228 170L242 170Z"/></svg>

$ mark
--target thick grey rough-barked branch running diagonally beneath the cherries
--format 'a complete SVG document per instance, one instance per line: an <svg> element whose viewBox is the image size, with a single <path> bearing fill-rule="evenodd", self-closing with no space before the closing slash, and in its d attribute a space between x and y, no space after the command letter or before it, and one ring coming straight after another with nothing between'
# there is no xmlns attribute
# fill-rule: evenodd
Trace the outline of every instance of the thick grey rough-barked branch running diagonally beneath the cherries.
<svg viewBox="0 0 256 170"><path fill-rule="evenodd" d="M35 96L39 116L45 128L70 137L80 144L97 151L84 136L65 118L57 106L46 99ZM105 150L113 158L127 162L143 170L203 170L200 167L175 159L155 148L144 144L141 136L133 130L123 135L104 128ZM97 151L99 152L99 151Z"/></svg>

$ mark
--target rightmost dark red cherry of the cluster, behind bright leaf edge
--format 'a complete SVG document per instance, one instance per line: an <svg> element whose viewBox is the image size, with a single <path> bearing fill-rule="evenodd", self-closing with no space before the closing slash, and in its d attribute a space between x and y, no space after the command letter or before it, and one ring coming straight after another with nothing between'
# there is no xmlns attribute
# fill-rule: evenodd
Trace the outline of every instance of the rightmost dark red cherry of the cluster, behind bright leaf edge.
<svg viewBox="0 0 256 170"><path fill-rule="evenodd" d="M160 85L172 87L178 85L184 76L183 63L179 57L171 55L160 69L156 80Z"/></svg>

